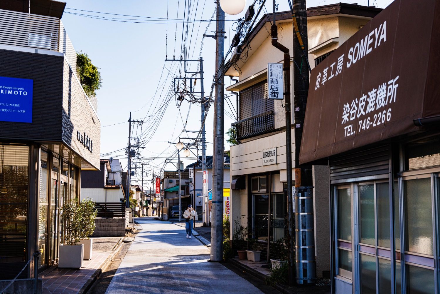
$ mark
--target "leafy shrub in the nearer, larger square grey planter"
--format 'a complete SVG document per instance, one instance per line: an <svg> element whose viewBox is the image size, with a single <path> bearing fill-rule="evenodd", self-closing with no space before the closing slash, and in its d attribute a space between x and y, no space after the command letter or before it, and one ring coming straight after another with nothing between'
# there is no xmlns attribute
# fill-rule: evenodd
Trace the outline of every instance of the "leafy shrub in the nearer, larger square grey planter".
<svg viewBox="0 0 440 294"><path fill-rule="evenodd" d="M66 243L59 246L59 268L81 268L84 258L84 244L78 244L81 231L81 213L77 198L62 206L66 221Z"/></svg>

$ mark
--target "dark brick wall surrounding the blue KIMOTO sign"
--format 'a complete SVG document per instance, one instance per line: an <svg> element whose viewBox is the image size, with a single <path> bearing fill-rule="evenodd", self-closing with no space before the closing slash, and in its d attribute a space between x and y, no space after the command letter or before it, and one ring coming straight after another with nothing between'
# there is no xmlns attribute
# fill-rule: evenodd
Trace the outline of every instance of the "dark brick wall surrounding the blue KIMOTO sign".
<svg viewBox="0 0 440 294"><path fill-rule="evenodd" d="M0 76L33 79L32 123L0 121L0 138L61 141L63 63L63 56L0 49Z"/></svg>

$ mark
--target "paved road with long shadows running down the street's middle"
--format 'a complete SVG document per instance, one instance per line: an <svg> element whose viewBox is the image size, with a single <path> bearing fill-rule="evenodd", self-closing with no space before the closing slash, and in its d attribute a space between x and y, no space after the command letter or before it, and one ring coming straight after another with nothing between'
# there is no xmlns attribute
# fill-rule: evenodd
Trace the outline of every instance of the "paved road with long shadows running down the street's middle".
<svg viewBox="0 0 440 294"><path fill-rule="evenodd" d="M187 239L183 227L139 217L143 227L115 273L106 294L116 293L255 293L257 287L211 263L209 249Z"/></svg>

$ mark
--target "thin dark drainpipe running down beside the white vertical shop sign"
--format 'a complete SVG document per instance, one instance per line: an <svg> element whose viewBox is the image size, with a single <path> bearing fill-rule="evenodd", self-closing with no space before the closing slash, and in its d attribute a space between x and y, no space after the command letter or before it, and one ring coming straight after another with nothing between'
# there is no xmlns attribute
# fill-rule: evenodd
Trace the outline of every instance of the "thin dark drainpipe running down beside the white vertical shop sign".
<svg viewBox="0 0 440 294"><path fill-rule="evenodd" d="M291 116L290 116L290 52L289 48L278 43L278 27L275 24L275 0L273 0L273 24L271 27L272 46L278 48L284 53L283 66L284 71L284 104L286 111L286 178L287 178L287 226L289 249L289 285L292 286L295 280L295 262L293 250L293 203L292 203L292 134L291 134Z"/></svg>

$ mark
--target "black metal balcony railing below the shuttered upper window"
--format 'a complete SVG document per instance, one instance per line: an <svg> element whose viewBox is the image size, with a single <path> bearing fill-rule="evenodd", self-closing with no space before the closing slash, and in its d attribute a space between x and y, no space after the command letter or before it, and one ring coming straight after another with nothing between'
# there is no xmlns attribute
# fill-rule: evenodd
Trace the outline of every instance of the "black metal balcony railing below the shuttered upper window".
<svg viewBox="0 0 440 294"><path fill-rule="evenodd" d="M275 114L273 110L264 112L260 115L232 123L231 126L237 141L267 134L275 130Z"/></svg>

